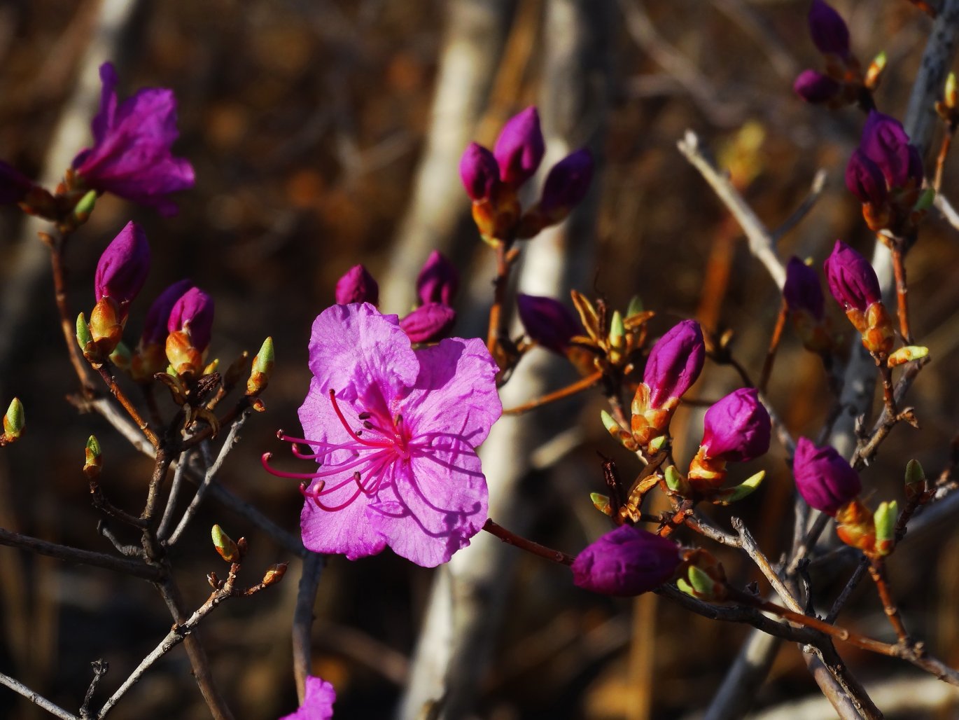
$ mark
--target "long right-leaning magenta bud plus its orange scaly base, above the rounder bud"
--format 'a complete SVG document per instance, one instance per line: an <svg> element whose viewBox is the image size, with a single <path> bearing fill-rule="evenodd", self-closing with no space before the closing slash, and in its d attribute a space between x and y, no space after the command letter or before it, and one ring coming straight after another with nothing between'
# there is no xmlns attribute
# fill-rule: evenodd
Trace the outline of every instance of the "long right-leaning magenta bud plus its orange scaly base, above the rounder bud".
<svg viewBox="0 0 959 720"><path fill-rule="evenodd" d="M649 351L643 382L631 405L630 430L641 447L663 435L679 399L702 372L706 345L699 324L684 320Z"/></svg>

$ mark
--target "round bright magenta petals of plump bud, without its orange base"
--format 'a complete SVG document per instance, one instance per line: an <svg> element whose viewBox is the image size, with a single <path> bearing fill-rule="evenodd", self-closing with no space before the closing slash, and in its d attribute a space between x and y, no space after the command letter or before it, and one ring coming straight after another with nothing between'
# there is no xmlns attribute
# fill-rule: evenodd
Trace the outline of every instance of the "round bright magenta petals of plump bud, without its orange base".
<svg viewBox="0 0 959 720"><path fill-rule="evenodd" d="M745 463L769 449L772 425L755 388L741 388L713 404L703 418L710 458Z"/></svg>

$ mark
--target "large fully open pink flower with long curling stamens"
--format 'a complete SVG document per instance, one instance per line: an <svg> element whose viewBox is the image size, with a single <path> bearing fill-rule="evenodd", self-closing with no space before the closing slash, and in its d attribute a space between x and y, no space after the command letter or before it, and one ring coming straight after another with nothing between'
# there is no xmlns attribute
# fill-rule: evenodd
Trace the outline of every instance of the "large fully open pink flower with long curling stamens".
<svg viewBox="0 0 959 720"><path fill-rule="evenodd" d="M305 438L281 438L319 468L267 466L309 482L304 544L350 560L389 545L424 567L447 562L486 520L476 448L503 406L482 341L414 350L395 315L368 303L333 305L313 324L310 370L299 410Z"/></svg>

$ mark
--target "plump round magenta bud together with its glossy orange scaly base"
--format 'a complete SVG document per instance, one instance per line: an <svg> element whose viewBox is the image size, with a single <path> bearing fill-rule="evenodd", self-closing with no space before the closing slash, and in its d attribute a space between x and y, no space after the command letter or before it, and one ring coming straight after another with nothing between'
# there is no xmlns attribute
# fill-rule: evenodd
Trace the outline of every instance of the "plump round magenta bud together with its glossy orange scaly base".
<svg viewBox="0 0 959 720"><path fill-rule="evenodd" d="M772 424L754 388L742 388L714 403L703 418L703 441L692 459L688 480L693 490L717 490L726 464L754 460L769 449Z"/></svg>

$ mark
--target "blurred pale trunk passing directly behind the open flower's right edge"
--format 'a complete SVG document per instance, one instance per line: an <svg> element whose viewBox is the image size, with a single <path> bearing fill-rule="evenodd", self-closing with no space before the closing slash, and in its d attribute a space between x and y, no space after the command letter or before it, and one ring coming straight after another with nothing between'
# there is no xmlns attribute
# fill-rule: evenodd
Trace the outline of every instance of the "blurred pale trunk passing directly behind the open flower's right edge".
<svg viewBox="0 0 959 720"><path fill-rule="evenodd" d="M595 152L601 145L609 92L610 3L550 0L544 10L542 33L550 41L543 43L539 107L549 155L542 169L581 140L588 139ZM571 287L589 282L599 185L594 183L587 202L567 223L544 231L523 249L523 292L562 298ZM526 357L503 388L503 405L512 407L549 392L556 367L546 352ZM521 533L529 526L533 517L520 491L530 469L528 450L548 440L548 431L562 429L535 412L503 418L494 426L479 450L490 490L490 517ZM494 629L502 622L516 558L514 548L480 534L439 570L398 717L420 717L424 708L433 708L435 717L460 718L472 710L493 649Z"/></svg>

